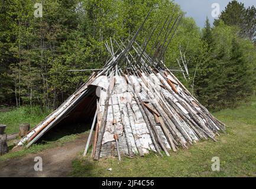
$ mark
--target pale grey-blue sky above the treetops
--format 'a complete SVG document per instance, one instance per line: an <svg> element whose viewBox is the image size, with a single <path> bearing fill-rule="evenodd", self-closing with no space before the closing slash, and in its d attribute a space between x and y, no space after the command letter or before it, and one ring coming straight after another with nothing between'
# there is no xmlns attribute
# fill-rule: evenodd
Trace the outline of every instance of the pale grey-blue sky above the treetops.
<svg viewBox="0 0 256 189"><path fill-rule="evenodd" d="M212 17L212 11L216 13L215 10L218 10L218 7L214 6L212 8L212 4L219 4L221 12L228 5L229 0L174 0L174 2L179 4L182 10L186 12L186 17L193 17L196 24L202 28L205 25L206 17L209 18L211 24L215 19ZM239 2L244 3L246 7L256 6L256 0L241 0ZM213 14L213 16L215 15Z"/></svg>

